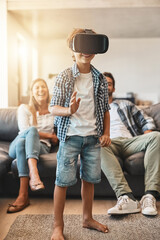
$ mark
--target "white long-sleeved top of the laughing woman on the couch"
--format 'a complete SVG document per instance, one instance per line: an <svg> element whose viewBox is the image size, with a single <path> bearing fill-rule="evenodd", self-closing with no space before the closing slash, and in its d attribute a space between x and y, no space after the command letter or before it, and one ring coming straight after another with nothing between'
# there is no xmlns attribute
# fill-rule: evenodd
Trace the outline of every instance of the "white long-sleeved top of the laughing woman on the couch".
<svg viewBox="0 0 160 240"><path fill-rule="evenodd" d="M49 109L48 109L49 110ZM50 111L49 111L50 112ZM51 113L47 113L44 115L37 114L37 125L35 126L38 132L45 132L45 133L53 133L54 132L54 117ZM19 127L19 134L28 129L33 125L33 115L29 111L27 105L21 104L18 108L18 127ZM41 142L47 144L48 147L51 146L49 139L40 139Z"/></svg>

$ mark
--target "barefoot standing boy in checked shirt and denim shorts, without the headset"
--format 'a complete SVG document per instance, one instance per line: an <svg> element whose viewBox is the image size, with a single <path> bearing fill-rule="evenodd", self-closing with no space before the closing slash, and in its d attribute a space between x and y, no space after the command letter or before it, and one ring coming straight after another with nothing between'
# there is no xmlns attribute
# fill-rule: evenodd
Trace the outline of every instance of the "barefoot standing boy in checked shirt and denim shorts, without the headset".
<svg viewBox="0 0 160 240"><path fill-rule="evenodd" d="M75 29L68 45L84 29ZM92 218L94 184L101 180L100 146L110 145L107 82L91 65L94 54L72 51L75 64L57 77L51 100L56 115L58 138L57 171L54 190L54 230L52 240L64 240L63 211L68 186L76 183L78 155L81 158L83 227L108 232Z"/></svg>

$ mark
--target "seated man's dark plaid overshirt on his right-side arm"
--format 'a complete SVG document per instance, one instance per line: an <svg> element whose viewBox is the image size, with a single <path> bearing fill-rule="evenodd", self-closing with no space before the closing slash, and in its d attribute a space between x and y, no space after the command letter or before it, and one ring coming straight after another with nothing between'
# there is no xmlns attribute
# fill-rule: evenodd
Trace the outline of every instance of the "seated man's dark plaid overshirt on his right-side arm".
<svg viewBox="0 0 160 240"><path fill-rule="evenodd" d="M147 130L156 129L153 119L139 110L132 102L114 100L112 104L117 106L117 112L122 122L133 137L141 135Z"/></svg>

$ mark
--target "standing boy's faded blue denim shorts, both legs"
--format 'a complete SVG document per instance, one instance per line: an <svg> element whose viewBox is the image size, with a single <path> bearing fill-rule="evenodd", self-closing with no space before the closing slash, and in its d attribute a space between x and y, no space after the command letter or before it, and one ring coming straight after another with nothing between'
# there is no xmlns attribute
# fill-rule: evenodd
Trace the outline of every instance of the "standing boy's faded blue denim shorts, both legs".
<svg viewBox="0 0 160 240"><path fill-rule="evenodd" d="M77 161L80 155L80 178L90 183L101 181L100 145L97 136L70 136L60 142L57 153L55 184L72 186L77 182Z"/></svg>

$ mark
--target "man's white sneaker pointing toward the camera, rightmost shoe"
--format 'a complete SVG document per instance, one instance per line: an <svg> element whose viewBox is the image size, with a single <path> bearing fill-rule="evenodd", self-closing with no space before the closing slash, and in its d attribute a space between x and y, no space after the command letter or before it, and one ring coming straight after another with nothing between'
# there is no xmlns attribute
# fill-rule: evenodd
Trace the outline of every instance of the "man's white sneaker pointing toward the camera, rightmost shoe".
<svg viewBox="0 0 160 240"><path fill-rule="evenodd" d="M157 208L156 208L156 199L151 194L146 194L142 197L141 201L141 209L142 214L144 215L157 215Z"/></svg>

